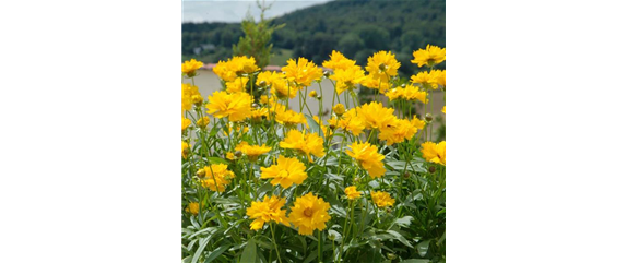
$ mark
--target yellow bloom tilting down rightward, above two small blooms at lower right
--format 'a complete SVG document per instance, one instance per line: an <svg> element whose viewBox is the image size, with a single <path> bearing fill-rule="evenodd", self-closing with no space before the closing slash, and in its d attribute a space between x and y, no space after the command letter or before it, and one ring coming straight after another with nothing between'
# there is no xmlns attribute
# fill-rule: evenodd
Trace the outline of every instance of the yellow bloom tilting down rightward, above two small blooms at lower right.
<svg viewBox="0 0 627 263"><path fill-rule="evenodd" d="M378 153L377 146L354 142L351 150L346 150L346 154L357 160L362 168L368 171L370 178L379 178L386 174L386 168L381 162L385 157Z"/></svg>

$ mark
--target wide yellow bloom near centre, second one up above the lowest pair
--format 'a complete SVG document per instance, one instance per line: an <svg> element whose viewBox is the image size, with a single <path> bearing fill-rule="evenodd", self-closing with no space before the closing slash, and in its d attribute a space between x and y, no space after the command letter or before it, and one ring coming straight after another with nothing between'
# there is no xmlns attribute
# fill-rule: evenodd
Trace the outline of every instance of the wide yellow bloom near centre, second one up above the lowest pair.
<svg viewBox="0 0 627 263"><path fill-rule="evenodd" d="M307 156L309 162L314 162L311 155L316 155L319 158L324 156L323 144L324 141L322 138L316 133L306 134L305 131L291 130L287 132L287 136L279 143L279 146L282 148L297 150L299 154Z"/></svg>

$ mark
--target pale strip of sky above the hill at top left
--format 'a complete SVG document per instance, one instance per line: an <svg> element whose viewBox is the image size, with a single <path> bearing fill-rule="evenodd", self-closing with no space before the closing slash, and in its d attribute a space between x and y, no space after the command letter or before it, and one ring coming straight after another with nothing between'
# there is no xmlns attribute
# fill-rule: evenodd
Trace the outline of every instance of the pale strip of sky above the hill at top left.
<svg viewBox="0 0 627 263"><path fill-rule="evenodd" d="M272 8L265 12L268 19L308 8L331 0L265 0ZM181 0L180 22L241 22L250 10L259 20L261 11L256 0Z"/></svg>

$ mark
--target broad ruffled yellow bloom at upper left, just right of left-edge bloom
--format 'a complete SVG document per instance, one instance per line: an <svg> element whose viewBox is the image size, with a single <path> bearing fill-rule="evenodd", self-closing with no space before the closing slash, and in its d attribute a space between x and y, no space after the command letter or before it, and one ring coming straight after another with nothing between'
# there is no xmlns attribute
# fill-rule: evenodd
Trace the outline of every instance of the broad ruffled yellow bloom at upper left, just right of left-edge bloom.
<svg viewBox="0 0 627 263"><path fill-rule="evenodd" d="M215 92L209 97L206 112L216 118L228 117L229 121L241 121L251 115L252 98L248 93Z"/></svg>

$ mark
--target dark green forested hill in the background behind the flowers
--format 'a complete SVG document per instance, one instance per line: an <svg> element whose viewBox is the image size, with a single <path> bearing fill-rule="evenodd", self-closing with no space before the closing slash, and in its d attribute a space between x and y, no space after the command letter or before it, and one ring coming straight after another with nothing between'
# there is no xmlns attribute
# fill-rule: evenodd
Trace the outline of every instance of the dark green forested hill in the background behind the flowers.
<svg viewBox="0 0 627 263"><path fill-rule="evenodd" d="M273 43L276 51L292 50L292 57L319 64L334 49L362 65L375 51L392 50L401 71L410 74L415 71L410 64L413 50L426 44L443 46L442 13L442 0L331 1L274 19L272 23L285 27L274 33ZM241 34L239 24L181 24L181 59L228 58Z"/></svg>

